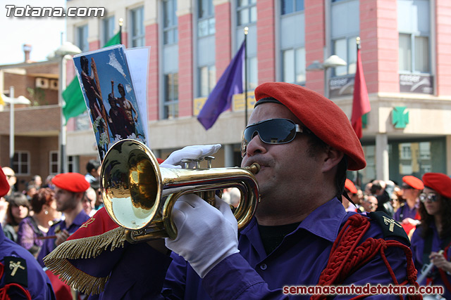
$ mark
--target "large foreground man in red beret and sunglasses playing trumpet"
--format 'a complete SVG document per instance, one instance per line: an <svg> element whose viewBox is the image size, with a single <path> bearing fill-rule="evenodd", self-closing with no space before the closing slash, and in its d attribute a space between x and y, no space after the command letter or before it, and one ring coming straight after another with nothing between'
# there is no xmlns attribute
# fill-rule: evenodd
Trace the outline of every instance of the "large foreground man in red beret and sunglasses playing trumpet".
<svg viewBox="0 0 451 300"><path fill-rule="evenodd" d="M89 299L288 299L284 286L290 285L415 285L404 230L388 216L347 212L341 203L346 171L363 169L366 161L340 107L281 82L261 84L255 99L242 136L242 167L260 165L261 200L239 234L228 204L217 198L213 207L184 195L173 209L175 239L114 244L113 251L99 243L94 259L61 253L46 259L49 267L89 288ZM184 157L170 158L165 164ZM65 263L70 270L58 268Z"/></svg>

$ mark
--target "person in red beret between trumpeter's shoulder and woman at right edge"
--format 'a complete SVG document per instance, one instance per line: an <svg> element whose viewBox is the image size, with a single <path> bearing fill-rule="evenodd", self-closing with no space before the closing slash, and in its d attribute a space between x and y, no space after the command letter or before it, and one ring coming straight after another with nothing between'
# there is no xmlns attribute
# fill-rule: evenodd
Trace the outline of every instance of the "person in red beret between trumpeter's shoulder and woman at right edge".
<svg viewBox="0 0 451 300"><path fill-rule="evenodd" d="M402 197L406 200L395 212L393 219L400 222L407 235L420 223L418 214L419 195L424 189L421 179L415 176L402 177Z"/></svg>

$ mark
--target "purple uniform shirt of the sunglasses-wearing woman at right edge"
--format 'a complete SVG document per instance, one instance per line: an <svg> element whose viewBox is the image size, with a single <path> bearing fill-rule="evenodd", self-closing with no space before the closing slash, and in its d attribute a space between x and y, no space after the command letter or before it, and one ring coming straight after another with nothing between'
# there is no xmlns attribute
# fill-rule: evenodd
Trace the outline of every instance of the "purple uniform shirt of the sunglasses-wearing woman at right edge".
<svg viewBox="0 0 451 300"><path fill-rule="evenodd" d="M431 225L432 228L432 247L431 247L431 251L433 252L439 252L440 249L442 249L440 247L440 245L443 244L443 240L440 239L440 237L438 237L438 231L437 228L435 228L435 224ZM412 235L412 246L410 246L410 248L412 249L412 258L414 259L414 263L415 263L415 268L416 270L418 270L418 276L421 274L421 268L423 267L423 250L424 250L424 239L423 237L420 236L420 231L421 231L421 226L417 226L416 230L414 231L414 234ZM447 250L447 257L448 257L448 261L451 258L451 247L448 248ZM436 271L437 268L433 269L433 273L434 270ZM436 273L436 277L432 282L432 285L441 285L444 287L445 289L445 294L443 294L443 296L446 299L451 299L451 291L447 290L445 285L443 285L443 280L440 277L440 274L438 274L438 272ZM448 280L448 282L451 282L451 276L450 275L446 275L446 278ZM418 282L419 285L426 285L426 280L424 280L423 282Z"/></svg>

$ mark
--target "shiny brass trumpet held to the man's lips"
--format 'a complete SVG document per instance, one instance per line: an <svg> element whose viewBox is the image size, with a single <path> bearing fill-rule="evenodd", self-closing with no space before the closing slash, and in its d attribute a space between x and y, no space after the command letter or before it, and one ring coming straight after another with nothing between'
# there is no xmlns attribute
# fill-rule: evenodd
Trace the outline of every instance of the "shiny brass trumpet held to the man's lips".
<svg viewBox="0 0 451 300"><path fill-rule="evenodd" d="M252 219L259 202L254 177L259 169L259 164L245 168L163 168L146 145L126 139L106 152L101 194L111 219L127 228L128 242L177 237L172 209L178 197L197 193L212 204L215 191L223 188L240 190L240 204L234 211L240 229Z"/></svg>

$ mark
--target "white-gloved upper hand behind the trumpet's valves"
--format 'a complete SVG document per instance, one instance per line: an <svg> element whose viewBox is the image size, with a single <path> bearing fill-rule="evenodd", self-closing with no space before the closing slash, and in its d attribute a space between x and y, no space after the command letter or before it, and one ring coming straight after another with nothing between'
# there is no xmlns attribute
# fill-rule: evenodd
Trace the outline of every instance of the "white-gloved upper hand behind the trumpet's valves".
<svg viewBox="0 0 451 300"><path fill-rule="evenodd" d="M174 166L181 166L181 168L183 168L184 164L182 163L182 159L204 158L218 152L220 148L221 144L186 146L183 149L172 152L171 155L169 155L169 157L166 158L162 164L160 164L160 167L169 168L169 165L171 165L173 166L172 168L180 169L180 167ZM191 167L194 167L194 163L190 164L190 168Z"/></svg>

